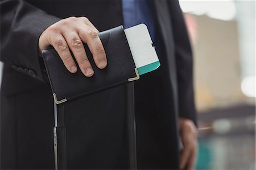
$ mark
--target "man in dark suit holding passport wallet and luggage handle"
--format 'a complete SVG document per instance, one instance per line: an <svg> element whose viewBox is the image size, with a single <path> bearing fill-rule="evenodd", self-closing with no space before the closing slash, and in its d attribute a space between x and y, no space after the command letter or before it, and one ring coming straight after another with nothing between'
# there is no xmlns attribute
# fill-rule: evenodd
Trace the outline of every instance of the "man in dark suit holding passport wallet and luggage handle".
<svg viewBox="0 0 256 170"><path fill-rule="evenodd" d="M192 52L183 15L176 0L148 4L162 65L135 82L138 168L192 169L196 113ZM75 74L80 69L89 78L94 72L82 42L88 44L97 67L104 69L108 56L97 32L123 24L122 12L121 0L1 1L2 169L54 167L53 99L39 51L52 45L68 71ZM127 168L125 90L126 85L118 86L65 107L71 138L68 168Z"/></svg>

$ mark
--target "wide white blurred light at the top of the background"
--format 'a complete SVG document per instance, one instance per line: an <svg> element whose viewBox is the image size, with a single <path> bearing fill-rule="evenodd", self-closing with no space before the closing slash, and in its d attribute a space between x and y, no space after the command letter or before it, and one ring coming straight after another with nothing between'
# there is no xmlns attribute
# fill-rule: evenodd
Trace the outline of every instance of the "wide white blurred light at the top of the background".
<svg viewBox="0 0 256 170"><path fill-rule="evenodd" d="M236 17L236 5L233 0L223 1L195 1L179 0L181 10L184 13L195 15L207 15L210 18L220 20L233 20Z"/></svg>

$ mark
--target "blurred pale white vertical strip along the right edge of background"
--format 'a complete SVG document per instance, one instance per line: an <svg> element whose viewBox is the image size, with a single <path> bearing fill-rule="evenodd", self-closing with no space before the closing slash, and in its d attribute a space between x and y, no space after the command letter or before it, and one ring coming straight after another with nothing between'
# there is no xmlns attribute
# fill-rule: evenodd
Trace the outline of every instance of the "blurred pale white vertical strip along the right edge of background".
<svg viewBox="0 0 256 170"><path fill-rule="evenodd" d="M241 90L247 97L255 91L255 1L235 1L241 56Z"/></svg>

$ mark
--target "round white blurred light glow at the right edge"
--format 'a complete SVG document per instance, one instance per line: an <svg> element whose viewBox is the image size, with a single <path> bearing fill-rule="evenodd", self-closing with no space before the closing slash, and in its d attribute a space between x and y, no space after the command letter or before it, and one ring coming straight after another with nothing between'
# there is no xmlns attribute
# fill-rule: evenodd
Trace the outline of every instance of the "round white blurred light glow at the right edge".
<svg viewBox="0 0 256 170"><path fill-rule="evenodd" d="M256 97L255 94L255 76L247 76L243 78L241 83L242 93L247 97Z"/></svg>

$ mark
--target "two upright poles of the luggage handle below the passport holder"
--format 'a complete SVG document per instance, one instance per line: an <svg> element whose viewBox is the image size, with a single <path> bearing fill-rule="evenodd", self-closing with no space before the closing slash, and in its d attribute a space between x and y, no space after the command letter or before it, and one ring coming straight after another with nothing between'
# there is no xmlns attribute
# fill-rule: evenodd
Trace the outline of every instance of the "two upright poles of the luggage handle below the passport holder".
<svg viewBox="0 0 256 170"><path fill-rule="evenodd" d="M126 105L127 105L127 134L129 136L129 168L137 169L136 154L136 128L134 113L134 82L126 85ZM65 131L65 103L54 102L53 127L55 169L68 169L67 164L67 143Z"/></svg>

